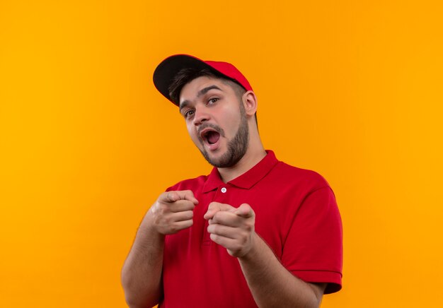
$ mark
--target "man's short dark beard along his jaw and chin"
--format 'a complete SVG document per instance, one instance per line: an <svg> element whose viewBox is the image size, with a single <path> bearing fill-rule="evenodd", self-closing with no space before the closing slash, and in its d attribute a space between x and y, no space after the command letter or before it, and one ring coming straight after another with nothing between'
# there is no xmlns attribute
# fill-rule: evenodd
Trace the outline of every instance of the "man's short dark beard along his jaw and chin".
<svg viewBox="0 0 443 308"><path fill-rule="evenodd" d="M200 150L205 160L207 160L207 162L209 162L209 164L213 165L214 167L232 167L236 165L236 163L239 162L241 158L243 158L246 150L248 150L249 127L248 120L246 119L246 110L245 107L243 107L243 104L240 104L240 117L240 125L238 126L236 135L228 142L228 149L226 150L226 153L222 155L222 157L210 158L205 148ZM223 136L224 132L222 131L222 129L218 128L218 130L222 133L221 135Z"/></svg>

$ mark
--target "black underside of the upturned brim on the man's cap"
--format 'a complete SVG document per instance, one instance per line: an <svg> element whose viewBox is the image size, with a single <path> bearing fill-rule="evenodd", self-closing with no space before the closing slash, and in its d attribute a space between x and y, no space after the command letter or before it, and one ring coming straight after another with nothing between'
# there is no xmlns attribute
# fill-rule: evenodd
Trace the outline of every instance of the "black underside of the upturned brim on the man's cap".
<svg viewBox="0 0 443 308"><path fill-rule="evenodd" d="M188 54L176 54L164 59L154 71L154 85L171 102L173 101L169 96L169 85L173 83L174 77L181 69L187 68L212 69L212 66Z"/></svg>

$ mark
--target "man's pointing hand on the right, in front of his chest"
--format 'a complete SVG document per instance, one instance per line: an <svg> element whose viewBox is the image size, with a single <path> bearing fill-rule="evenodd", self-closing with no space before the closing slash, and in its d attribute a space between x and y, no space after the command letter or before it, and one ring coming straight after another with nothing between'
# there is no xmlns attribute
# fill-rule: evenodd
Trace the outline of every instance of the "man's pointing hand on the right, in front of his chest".
<svg viewBox="0 0 443 308"><path fill-rule="evenodd" d="M211 239L228 250L231 256L245 256L253 247L255 213L247 203L234 208L229 204L211 202L204 216L209 220L207 232Z"/></svg>

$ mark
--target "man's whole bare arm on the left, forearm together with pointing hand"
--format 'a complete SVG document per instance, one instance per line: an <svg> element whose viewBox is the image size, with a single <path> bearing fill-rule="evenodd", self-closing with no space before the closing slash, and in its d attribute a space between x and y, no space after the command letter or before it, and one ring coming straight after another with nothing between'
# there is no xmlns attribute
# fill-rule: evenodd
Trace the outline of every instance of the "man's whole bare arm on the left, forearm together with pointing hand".
<svg viewBox="0 0 443 308"><path fill-rule="evenodd" d="M168 191L144 215L122 269L122 285L130 307L158 304L165 237L192 226L197 203L190 190Z"/></svg>

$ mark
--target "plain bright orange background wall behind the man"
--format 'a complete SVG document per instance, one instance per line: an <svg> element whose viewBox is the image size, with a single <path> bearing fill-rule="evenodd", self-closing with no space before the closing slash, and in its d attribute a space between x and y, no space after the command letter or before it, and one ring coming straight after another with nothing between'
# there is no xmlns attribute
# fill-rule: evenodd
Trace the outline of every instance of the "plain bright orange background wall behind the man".
<svg viewBox="0 0 443 308"><path fill-rule="evenodd" d="M2 0L0 306L125 307L145 211L210 170L151 82L190 53L236 64L265 148L333 187L343 290L322 307L436 307L442 16L426 0Z"/></svg>

